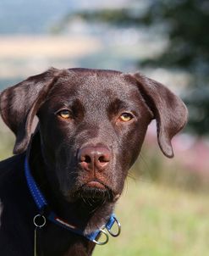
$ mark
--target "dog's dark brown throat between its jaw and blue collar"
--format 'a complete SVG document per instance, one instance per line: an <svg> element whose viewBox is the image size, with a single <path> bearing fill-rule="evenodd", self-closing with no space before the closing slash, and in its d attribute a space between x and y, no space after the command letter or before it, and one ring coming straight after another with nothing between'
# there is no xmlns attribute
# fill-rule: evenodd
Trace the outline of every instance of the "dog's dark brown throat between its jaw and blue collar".
<svg viewBox="0 0 209 256"><path fill-rule="evenodd" d="M35 150L34 147L39 147L39 149L36 148ZM100 228L113 213L114 203L91 202L83 199L71 203L66 201L59 190L55 172L48 170L49 167L43 159L40 147L39 135L36 134L30 143L29 149L31 172L52 210L58 214L58 217L71 225L75 225L85 233L91 233Z"/></svg>

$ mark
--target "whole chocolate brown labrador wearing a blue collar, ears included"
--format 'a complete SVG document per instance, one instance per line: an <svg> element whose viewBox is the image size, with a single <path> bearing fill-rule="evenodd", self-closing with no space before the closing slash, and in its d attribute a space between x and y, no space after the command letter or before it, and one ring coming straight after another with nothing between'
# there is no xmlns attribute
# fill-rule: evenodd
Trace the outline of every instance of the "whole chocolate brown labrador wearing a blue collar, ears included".
<svg viewBox="0 0 209 256"><path fill-rule="evenodd" d="M87 256L118 236L114 205L147 126L171 158L187 120L168 88L113 70L52 68L3 91L0 110L16 136L0 163L2 256Z"/></svg>

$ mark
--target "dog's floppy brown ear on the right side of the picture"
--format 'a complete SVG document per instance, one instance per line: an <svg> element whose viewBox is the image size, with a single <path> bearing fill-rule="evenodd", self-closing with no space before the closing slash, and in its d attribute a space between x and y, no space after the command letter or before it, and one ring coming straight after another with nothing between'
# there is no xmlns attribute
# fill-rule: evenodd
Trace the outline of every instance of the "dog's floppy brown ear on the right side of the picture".
<svg viewBox="0 0 209 256"><path fill-rule="evenodd" d="M159 147L168 158L173 157L171 140L186 124L188 111L182 100L161 83L136 73L135 80L142 97L157 120Z"/></svg>

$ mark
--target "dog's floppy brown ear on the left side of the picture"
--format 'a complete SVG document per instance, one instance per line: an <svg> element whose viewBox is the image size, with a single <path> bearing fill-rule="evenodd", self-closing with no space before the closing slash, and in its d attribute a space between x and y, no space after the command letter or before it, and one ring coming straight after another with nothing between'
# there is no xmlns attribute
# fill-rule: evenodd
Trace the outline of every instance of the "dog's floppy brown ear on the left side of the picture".
<svg viewBox="0 0 209 256"><path fill-rule="evenodd" d="M19 84L8 87L0 94L0 112L4 122L14 132L14 153L22 153L30 142L31 125L47 96L59 70L50 69L30 76Z"/></svg>

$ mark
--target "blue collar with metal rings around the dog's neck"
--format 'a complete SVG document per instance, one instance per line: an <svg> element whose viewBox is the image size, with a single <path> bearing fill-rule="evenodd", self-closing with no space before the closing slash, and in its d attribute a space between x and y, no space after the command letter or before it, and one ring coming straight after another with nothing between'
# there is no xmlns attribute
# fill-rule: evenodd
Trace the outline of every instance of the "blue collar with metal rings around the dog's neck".
<svg viewBox="0 0 209 256"><path fill-rule="evenodd" d="M29 166L29 163L28 163L28 160L26 157L25 157L25 177L26 177L27 185L30 189L30 193L36 203L37 208L40 210L40 212L42 212L43 209L48 209L47 200L44 197L44 195L41 193L39 187L36 185L36 181L34 180L33 176L30 173L30 166ZM41 223L40 223L40 219L41 219ZM60 219L51 210L48 211L48 213L47 213L47 220L50 220L53 223L55 223L56 225L59 225L69 231L72 231L77 235L83 236L83 237L89 239L91 242L95 242L96 244L99 244L99 245L106 244L108 242L108 233L112 237L118 237L120 234L120 230L121 230L121 225L118 222L115 214L111 214L107 223L102 225L102 227L100 229L97 229L96 231L92 232L91 234L87 234L87 235L85 234L84 231L76 228L74 225L70 225L68 222ZM34 225L36 225L36 227L41 228L45 224L46 224L45 214L37 214L34 217ZM117 233L113 233L113 231L111 231L114 224L118 225ZM104 237L102 238L102 242L100 242L97 239L99 239L99 237L102 234Z"/></svg>

